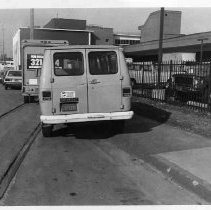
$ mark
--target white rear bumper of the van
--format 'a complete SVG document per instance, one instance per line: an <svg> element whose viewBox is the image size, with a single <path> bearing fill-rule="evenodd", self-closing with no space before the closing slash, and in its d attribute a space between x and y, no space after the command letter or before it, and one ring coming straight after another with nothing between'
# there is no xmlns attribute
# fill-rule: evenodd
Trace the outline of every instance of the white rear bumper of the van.
<svg viewBox="0 0 211 210"><path fill-rule="evenodd" d="M111 113L86 113L71 115L41 115L40 120L45 124L62 124L73 122L88 122L102 120L128 120L133 117L133 111Z"/></svg>

